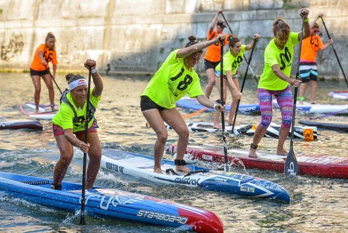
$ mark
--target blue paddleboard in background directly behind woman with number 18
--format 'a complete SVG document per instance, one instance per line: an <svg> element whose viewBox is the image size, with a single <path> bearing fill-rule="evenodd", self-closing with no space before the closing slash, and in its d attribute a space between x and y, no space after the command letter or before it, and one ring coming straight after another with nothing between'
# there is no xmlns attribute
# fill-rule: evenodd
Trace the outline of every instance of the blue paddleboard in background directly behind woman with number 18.
<svg viewBox="0 0 348 233"><path fill-rule="evenodd" d="M176 103L177 107L182 109L189 109L189 110L200 110L203 109L204 106L198 102L196 98L189 98L189 97L183 97L179 99ZM231 104L226 103L226 112L229 112L231 108ZM205 111L213 112L214 109L206 108ZM238 113L244 113L244 114L256 114L260 112L260 105L258 103L255 104L240 104L238 108Z"/></svg>

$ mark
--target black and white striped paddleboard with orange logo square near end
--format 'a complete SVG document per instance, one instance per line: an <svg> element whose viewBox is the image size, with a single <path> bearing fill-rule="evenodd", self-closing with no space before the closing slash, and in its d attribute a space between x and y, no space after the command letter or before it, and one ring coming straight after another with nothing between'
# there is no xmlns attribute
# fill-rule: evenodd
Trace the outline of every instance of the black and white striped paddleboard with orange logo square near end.
<svg viewBox="0 0 348 233"><path fill-rule="evenodd" d="M211 122L186 122L187 128L192 132L222 132L222 129L215 129L213 127L214 123ZM235 135L246 135L254 136L257 124L242 124L234 127L232 132L232 125L226 125L226 133ZM169 125L166 124L167 129L171 129ZM271 123L268 127L265 137L269 138L279 138L280 125ZM289 132L288 139L290 139L291 133ZM315 126L295 126L294 129L294 139L302 140L317 140L318 132Z"/></svg>

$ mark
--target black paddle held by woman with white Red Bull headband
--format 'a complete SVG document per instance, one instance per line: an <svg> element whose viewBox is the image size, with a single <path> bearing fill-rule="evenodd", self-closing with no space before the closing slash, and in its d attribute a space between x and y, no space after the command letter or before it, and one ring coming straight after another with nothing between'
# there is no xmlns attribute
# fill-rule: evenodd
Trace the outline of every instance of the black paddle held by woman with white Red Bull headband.
<svg viewBox="0 0 348 233"><path fill-rule="evenodd" d="M92 67L89 66L88 73L88 91L87 91L87 102L86 102L86 119L84 122L84 143L88 144L88 123L90 120L90 90L91 90L91 72ZM86 163L87 163L87 153L83 153L83 167L82 167L82 193L81 193L81 215L80 215L80 225L85 225L84 223L84 196L86 188Z"/></svg>

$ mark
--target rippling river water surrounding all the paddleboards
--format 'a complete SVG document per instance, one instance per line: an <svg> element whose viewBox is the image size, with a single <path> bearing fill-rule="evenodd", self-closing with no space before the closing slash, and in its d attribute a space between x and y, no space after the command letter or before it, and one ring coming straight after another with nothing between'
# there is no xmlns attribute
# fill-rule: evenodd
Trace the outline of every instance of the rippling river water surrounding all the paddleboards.
<svg viewBox="0 0 348 233"><path fill-rule="evenodd" d="M153 155L155 133L145 127L145 119L140 112L140 93L146 87L150 77L103 77L104 92L100 101L97 119L100 128L98 135L103 148L127 150ZM64 77L56 79L61 89L66 88ZM48 92L41 82L41 103L48 103ZM204 84L202 84L204 86ZM254 80L248 79L242 103L257 102ZM343 82L319 82L317 102L334 103L343 101L330 99L327 93L341 90ZM56 91L56 102L59 95ZM33 85L29 74L0 74L0 119L26 119L20 113L18 105L33 101ZM216 90L213 98L217 99ZM228 94L228 98L230 95ZM188 112L181 111L183 115ZM296 121L306 116L296 116ZM212 121L212 113L201 113L188 118L191 121ZM280 113L274 111L273 122L280 123ZM328 117L332 121L345 121L347 117ZM238 115L238 123L258 123L259 116ZM28 130L0 131L0 171L24 175L52 178L55 162L59 158L51 123L41 121L44 131ZM321 154L347 157L348 143L344 133L319 131L319 140L315 142L295 141L297 153ZM178 136L168 132L168 144L175 143ZM192 132L191 143L209 143L222 145L221 135ZM248 149L251 137L228 137L228 146ZM276 139L264 138L260 148L275 152ZM289 141L286 142L286 147ZM165 155L171 158L169 155ZM75 150L74 159L67 172L66 181L80 182L82 174L82 153ZM243 171L241 171L243 172ZM96 185L119 188L129 192L156 196L213 211L225 226L226 232L343 232L348 220L348 184L343 179L325 179L314 177L284 177L273 172L247 170L252 176L259 176L285 187L292 199L290 204L271 200L244 198L183 188L159 185L139 178L113 174L100 170ZM97 219L87 217L88 227L79 226L76 213L66 213L44 206L13 199L0 193L0 230L8 232L171 232L171 228L150 226L123 220Z"/></svg>

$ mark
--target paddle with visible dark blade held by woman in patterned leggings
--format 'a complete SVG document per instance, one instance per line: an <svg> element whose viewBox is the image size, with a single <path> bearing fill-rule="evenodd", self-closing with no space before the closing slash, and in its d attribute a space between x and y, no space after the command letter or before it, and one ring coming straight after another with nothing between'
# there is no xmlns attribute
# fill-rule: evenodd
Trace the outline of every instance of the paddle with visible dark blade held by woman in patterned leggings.
<svg viewBox="0 0 348 233"><path fill-rule="evenodd" d="M302 16L302 25L301 25L301 34L300 34L300 43L298 47L298 57L297 57L297 69L296 69L296 80L299 79L300 72L300 54L302 47L302 36L303 36L303 25L305 24L305 19ZM291 137L290 137L290 149L285 160L284 164L284 175L286 176L297 176L300 174L300 167L298 165L297 159L295 157L293 145L294 145L294 129L295 129L295 114L296 114L296 100L297 100L297 89L294 90L294 109L292 114L292 122L291 122Z"/></svg>

